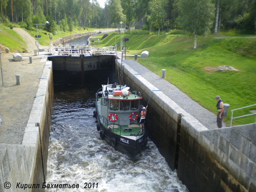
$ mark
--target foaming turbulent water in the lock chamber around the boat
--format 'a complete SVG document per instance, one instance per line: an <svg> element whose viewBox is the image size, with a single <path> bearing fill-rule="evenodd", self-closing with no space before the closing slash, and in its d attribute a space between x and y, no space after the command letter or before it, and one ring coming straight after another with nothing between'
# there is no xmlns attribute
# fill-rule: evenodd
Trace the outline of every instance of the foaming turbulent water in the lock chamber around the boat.
<svg viewBox="0 0 256 192"><path fill-rule="evenodd" d="M188 192L152 141L132 162L100 139L92 106L96 91L95 86L54 87L46 183L79 188L46 191Z"/></svg>

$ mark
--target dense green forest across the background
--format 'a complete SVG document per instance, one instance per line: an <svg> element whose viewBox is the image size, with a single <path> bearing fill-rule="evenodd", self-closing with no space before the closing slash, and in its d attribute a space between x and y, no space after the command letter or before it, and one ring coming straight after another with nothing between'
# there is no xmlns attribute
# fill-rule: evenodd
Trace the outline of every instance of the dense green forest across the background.
<svg viewBox="0 0 256 192"><path fill-rule="evenodd" d="M32 28L50 22L63 31L78 28L142 28L152 31L184 29L193 35L220 30L255 34L256 0L0 0L1 22ZM42 27L42 26L41 26Z"/></svg>

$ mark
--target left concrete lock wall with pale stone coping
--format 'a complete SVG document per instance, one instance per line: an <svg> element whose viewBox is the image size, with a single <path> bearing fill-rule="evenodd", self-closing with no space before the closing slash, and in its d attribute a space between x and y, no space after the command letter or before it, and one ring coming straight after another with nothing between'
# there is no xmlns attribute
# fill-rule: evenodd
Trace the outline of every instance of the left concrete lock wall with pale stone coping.
<svg viewBox="0 0 256 192"><path fill-rule="evenodd" d="M52 62L46 61L46 58L42 62L45 62L44 71L22 145L0 144L0 191L44 191L42 185L47 173L53 82ZM4 188L6 181L11 183L11 188ZM39 184L40 187L35 185L24 190L24 184Z"/></svg>

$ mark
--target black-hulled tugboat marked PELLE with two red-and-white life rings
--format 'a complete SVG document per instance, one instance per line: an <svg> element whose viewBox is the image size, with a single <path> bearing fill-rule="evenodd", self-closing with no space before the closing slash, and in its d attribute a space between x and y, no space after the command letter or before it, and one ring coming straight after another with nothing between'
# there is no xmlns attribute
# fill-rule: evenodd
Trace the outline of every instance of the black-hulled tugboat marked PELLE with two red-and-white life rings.
<svg viewBox="0 0 256 192"><path fill-rule="evenodd" d="M140 129L141 94L117 84L102 85L96 93L95 112L100 138L132 160L148 138Z"/></svg>

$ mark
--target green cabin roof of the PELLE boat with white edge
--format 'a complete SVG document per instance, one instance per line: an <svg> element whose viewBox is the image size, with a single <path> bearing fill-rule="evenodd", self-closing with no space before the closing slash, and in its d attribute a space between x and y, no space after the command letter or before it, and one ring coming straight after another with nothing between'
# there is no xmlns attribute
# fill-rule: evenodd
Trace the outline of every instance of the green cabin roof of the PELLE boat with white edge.
<svg viewBox="0 0 256 192"><path fill-rule="evenodd" d="M126 85L121 87L120 90L120 85L114 85L113 84L108 84L108 85L102 85L102 93L104 97L108 98L109 100L140 100L142 97L140 97L138 94L133 94L132 92L129 91L129 87L126 87ZM115 91L124 91L125 93L122 95L114 96ZM126 91L125 91L126 90ZM130 92L130 95L127 94Z"/></svg>

